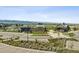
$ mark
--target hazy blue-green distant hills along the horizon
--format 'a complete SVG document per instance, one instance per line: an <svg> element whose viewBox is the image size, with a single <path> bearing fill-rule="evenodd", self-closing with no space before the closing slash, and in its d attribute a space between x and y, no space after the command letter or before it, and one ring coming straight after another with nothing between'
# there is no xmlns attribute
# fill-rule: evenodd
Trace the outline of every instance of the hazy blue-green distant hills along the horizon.
<svg viewBox="0 0 79 59"><path fill-rule="evenodd" d="M19 21L19 20L0 20L0 23L3 24L53 24L53 25L57 25L57 24L61 24L61 23L50 23L50 22L34 22L34 21ZM68 25L79 25L79 24L72 24L72 23L66 23Z"/></svg>

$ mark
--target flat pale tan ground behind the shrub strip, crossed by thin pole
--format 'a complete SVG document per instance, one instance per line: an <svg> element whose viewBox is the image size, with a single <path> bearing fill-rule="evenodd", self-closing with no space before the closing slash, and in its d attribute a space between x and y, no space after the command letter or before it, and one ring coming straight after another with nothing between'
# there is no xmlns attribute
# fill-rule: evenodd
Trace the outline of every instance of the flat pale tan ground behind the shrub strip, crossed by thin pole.
<svg viewBox="0 0 79 59"><path fill-rule="evenodd" d="M27 33L16 33L16 32L0 32L0 38L3 39L11 39L19 37L20 40L27 40ZM35 41L37 39L38 41L44 41L48 42L48 39L50 36L31 36L31 34L28 34L28 40Z"/></svg>

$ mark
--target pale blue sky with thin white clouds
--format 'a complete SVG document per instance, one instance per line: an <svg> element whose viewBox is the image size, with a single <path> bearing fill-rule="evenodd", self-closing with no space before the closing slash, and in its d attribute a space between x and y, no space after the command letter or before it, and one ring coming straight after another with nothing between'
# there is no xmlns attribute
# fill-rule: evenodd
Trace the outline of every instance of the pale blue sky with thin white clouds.
<svg viewBox="0 0 79 59"><path fill-rule="evenodd" d="M0 20L79 23L79 6L0 6Z"/></svg>

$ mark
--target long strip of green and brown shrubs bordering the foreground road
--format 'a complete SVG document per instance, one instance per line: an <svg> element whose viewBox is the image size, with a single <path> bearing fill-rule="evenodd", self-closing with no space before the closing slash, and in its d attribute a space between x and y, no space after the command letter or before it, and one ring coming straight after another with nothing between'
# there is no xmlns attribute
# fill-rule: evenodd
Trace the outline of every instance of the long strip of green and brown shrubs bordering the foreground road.
<svg viewBox="0 0 79 59"><path fill-rule="evenodd" d="M26 41L26 40L0 39L0 42L8 45L16 46L16 47L30 48L30 49L43 50L43 51L60 52L60 53L76 52L74 50L71 51L65 48L66 40L75 40L75 39L54 38L54 39L48 39L49 42L40 42L38 40Z"/></svg>

